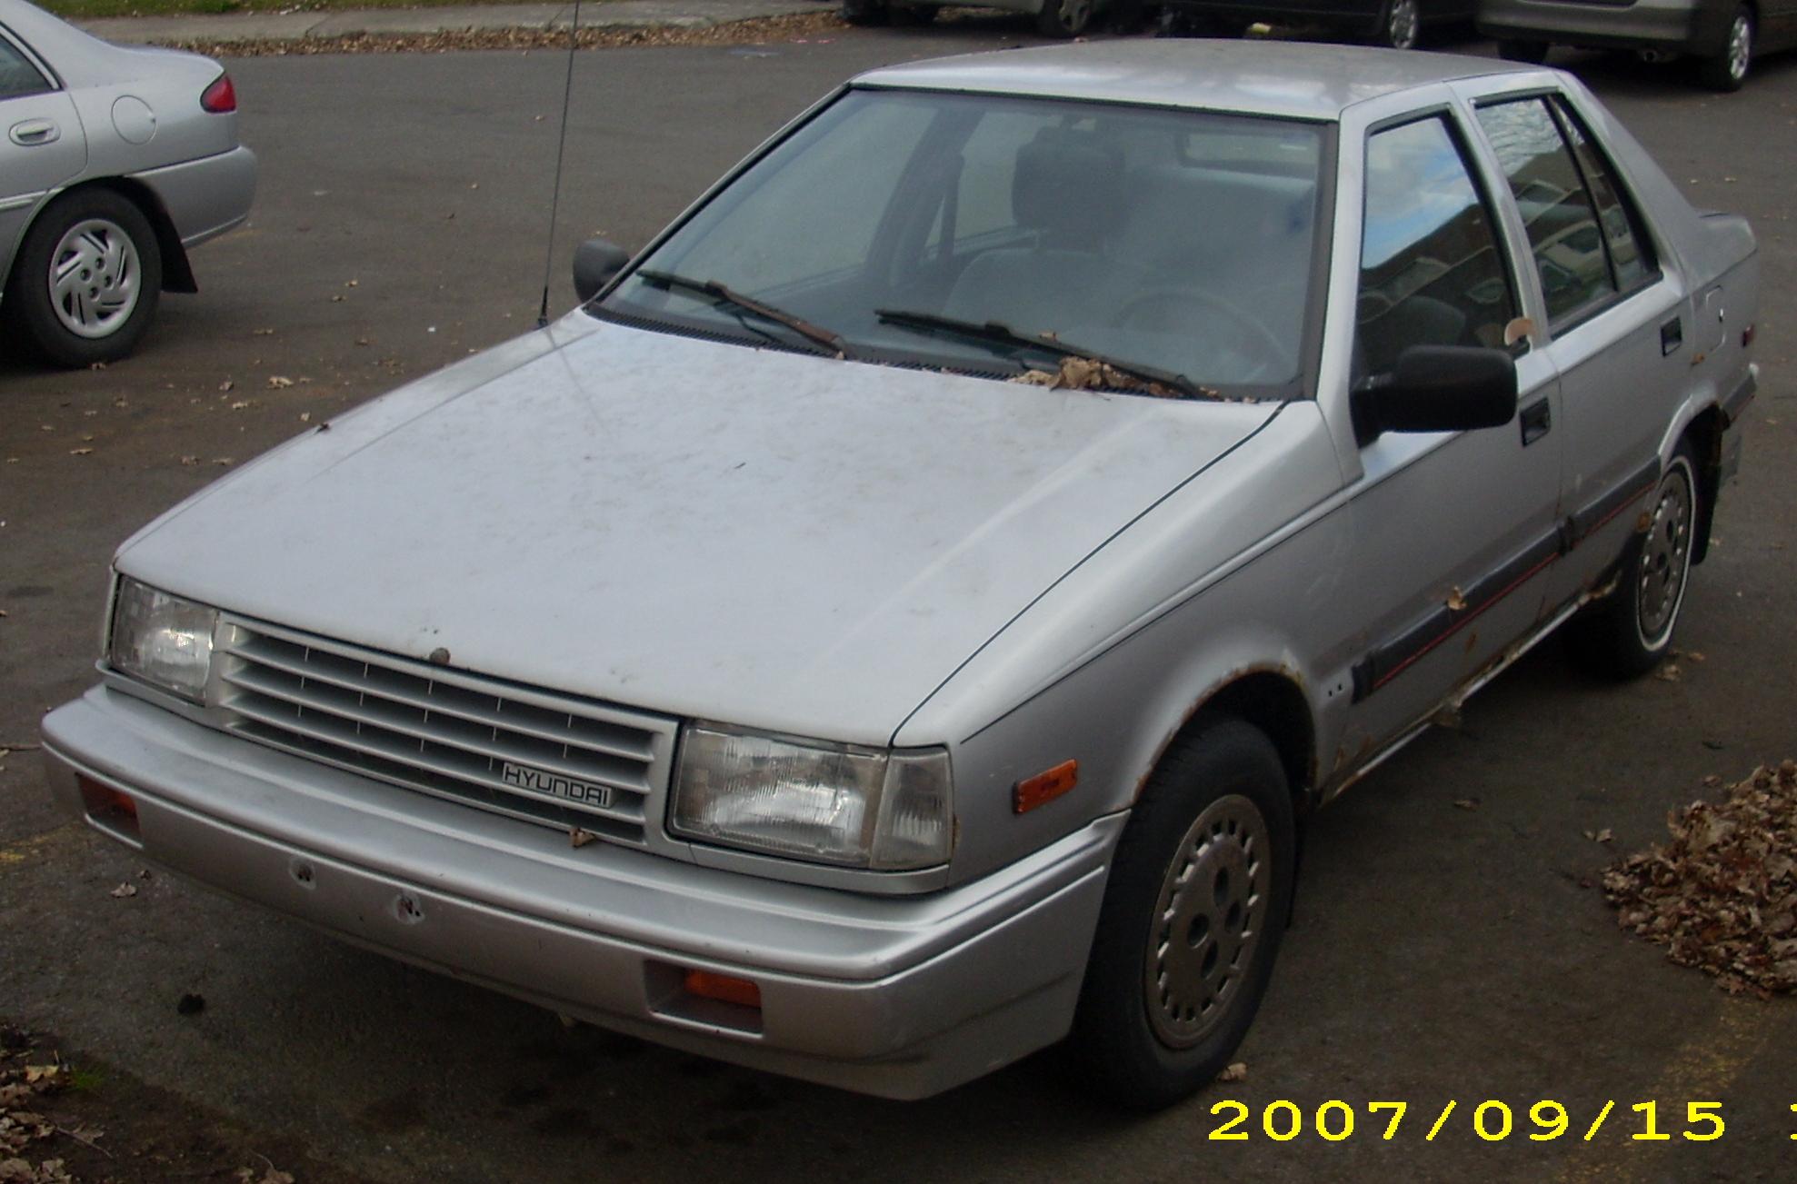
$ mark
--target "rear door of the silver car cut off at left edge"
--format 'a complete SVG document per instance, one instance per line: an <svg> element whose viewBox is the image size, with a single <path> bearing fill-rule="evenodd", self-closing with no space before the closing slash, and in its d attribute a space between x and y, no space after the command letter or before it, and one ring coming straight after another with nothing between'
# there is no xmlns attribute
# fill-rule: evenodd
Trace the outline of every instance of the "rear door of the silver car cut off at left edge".
<svg viewBox="0 0 1797 1184"><path fill-rule="evenodd" d="M43 196L86 165L75 104L22 41L0 27L0 282Z"/></svg>

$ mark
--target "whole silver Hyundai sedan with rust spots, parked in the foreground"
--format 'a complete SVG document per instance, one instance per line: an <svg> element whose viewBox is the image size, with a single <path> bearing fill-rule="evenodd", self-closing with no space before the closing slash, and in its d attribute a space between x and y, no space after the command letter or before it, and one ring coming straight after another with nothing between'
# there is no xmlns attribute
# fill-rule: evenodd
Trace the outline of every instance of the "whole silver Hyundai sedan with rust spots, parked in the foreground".
<svg viewBox="0 0 1797 1184"><path fill-rule="evenodd" d="M843 86L586 304L117 553L61 798L167 868L891 1098L1213 1080L1305 819L1669 649L1745 221L1578 81L1134 41Z"/></svg>

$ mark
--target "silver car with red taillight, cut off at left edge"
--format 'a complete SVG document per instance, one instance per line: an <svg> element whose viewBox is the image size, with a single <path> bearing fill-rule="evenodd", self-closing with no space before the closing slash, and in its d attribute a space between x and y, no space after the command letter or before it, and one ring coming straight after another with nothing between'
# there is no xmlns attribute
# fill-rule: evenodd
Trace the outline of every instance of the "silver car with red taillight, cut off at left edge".
<svg viewBox="0 0 1797 1184"><path fill-rule="evenodd" d="M0 0L0 320L50 361L131 352L187 250L250 214L237 92L196 54L90 38Z"/></svg>

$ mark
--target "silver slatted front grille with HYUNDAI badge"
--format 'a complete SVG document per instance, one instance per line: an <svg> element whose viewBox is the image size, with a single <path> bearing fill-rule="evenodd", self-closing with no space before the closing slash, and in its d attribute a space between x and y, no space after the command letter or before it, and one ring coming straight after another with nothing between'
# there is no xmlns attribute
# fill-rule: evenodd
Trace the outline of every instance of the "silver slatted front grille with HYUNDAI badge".
<svg viewBox="0 0 1797 1184"><path fill-rule="evenodd" d="M642 846L659 817L674 720L261 623L226 636L241 737L615 843Z"/></svg>

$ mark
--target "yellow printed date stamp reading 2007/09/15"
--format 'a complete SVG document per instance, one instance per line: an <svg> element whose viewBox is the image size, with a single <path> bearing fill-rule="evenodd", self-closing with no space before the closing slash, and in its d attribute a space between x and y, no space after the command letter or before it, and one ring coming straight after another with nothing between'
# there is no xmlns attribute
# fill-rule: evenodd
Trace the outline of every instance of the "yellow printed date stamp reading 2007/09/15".
<svg viewBox="0 0 1797 1184"><path fill-rule="evenodd" d="M1551 1098L1529 1105L1526 1119L1518 1118L1517 1109L1511 1109L1509 1103L1495 1098L1468 1103L1466 1110L1461 1110L1457 1100L1448 1100L1439 1110L1418 1110L1418 1116L1407 1125L1405 1118L1411 1112L1411 1103L1368 1101L1364 1105L1366 1118L1362 1125L1360 1112L1348 1101L1324 1101L1315 1112L1305 1114L1296 1101L1279 1100L1269 1101L1260 1109L1260 1128L1254 1130L1254 1107L1245 1101L1224 1098L1211 1103L1211 1116L1220 1119L1220 1125L1211 1128L1209 1137L1217 1141L1240 1141L1258 1135L1274 1143L1290 1143L1303 1134L1314 1134L1328 1143L1341 1143L1351 1139L1357 1130L1377 1134L1380 1139L1398 1139L1405 1137L1403 1132L1420 1134L1427 1125L1423 1141L1434 1143L1445 1130L1452 1132L1459 1127L1459 1123L1450 1125L1454 1114L1459 1112L1461 1123L1470 1121L1472 1132L1486 1143L1502 1143L1511 1135L1518 1139L1527 1137L1533 1143L1551 1143L1563 1135L1583 1137L1590 1143L1605 1128L1605 1121L1610 1119L1610 1112L1616 1109L1616 1100L1605 1101L1603 1109L1589 1123L1581 1123L1572 1118L1572 1112L1565 1105ZM1729 1128L1722 1118L1720 1101L1687 1101L1682 1127L1668 1121L1673 1118L1671 1114L1662 1119L1660 1103L1657 1101L1637 1101L1630 1105L1630 1110L1633 1118L1617 1116L1617 1125L1612 1130L1626 1130L1628 1139L1635 1143L1666 1143L1669 1139L1714 1143ZM1792 1112L1797 1114L1797 1103L1792 1105ZM1797 1134L1792 1134L1792 1139L1797 1139Z"/></svg>

